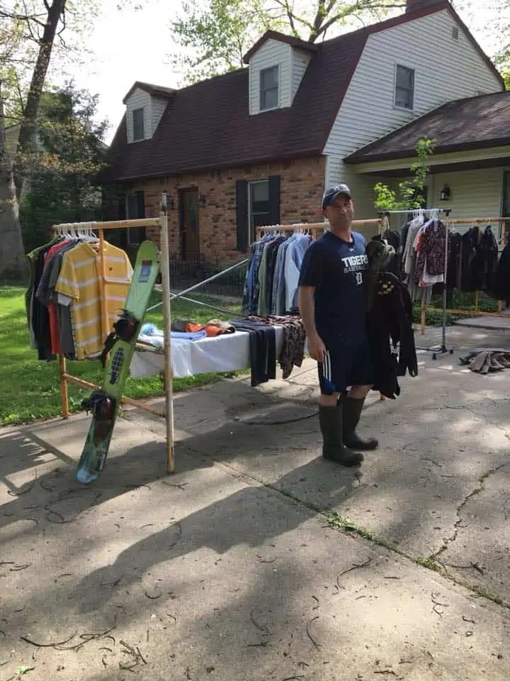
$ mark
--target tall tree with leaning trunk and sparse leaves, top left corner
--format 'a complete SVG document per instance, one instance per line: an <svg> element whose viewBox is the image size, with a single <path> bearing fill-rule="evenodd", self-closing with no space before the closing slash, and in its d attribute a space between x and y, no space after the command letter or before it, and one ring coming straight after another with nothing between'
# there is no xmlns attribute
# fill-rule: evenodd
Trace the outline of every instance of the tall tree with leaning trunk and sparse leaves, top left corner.
<svg viewBox="0 0 510 681"><path fill-rule="evenodd" d="M126 0L122 7L132 4ZM100 0L0 0L0 277L23 273L24 258L18 196L26 180L23 159L33 140L42 90L52 55L62 51L66 60L86 52L81 43L91 31ZM135 8L140 5L135 3ZM119 4L119 9L121 6ZM66 43L65 33L78 36ZM79 43L77 45L77 43ZM79 47L79 50L77 50ZM19 123L16 153L7 153L6 122Z"/></svg>

